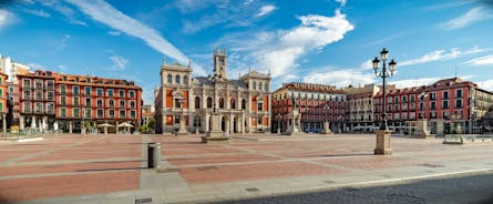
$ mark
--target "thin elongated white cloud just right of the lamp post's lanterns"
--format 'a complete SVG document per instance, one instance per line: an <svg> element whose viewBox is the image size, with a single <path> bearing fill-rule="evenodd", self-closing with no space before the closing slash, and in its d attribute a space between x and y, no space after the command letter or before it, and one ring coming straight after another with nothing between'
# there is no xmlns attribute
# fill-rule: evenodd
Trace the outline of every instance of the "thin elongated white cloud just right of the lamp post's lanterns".
<svg viewBox="0 0 493 204"><path fill-rule="evenodd" d="M440 61L440 60L452 60L452 59L456 59L456 58L462 58L468 54L484 52L487 49L480 49L479 47L473 47L470 50L465 50L465 51L461 51L458 48L452 48L452 49L450 49L449 52L445 50L435 50L433 52L429 52L429 53L427 53L420 58L417 58L417 59L398 62L398 65L405 67L405 65L415 65L415 64L422 64L422 63Z"/></svg>

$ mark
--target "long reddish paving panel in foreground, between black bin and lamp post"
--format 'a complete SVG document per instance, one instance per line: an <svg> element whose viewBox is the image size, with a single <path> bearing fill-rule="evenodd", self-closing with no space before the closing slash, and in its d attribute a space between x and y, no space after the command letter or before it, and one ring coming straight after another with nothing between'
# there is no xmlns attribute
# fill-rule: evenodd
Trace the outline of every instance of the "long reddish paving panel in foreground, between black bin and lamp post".
<svg viewBox="0 0 493 204"><path fill-rule="evenodd" d="M340 170L304 162L278 162L263 164L212 166L208 169L185 167L181 175L188 183L219 183L234 181L264 180L271 177L295 177L300 175L332 174Z"/></svg>

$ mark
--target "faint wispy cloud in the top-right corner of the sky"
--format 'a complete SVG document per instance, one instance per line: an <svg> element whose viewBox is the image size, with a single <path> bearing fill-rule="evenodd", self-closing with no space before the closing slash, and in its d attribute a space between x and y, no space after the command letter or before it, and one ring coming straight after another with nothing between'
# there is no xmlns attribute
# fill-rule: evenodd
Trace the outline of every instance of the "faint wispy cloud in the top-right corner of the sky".
<svg viewBox="0 0 493 204"><path fill-rule="evenodd" d="M454 30L491 18L493 18L493 14L485 8L476 7L460 17L453 18L445 23L440 24L440 27L445 30Z"/></svg>

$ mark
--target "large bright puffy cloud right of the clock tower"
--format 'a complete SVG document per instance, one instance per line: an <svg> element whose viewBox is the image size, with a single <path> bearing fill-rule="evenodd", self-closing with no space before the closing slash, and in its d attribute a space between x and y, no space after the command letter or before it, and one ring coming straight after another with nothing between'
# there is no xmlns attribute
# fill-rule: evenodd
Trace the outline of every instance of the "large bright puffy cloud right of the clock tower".
<svg viewBox="0 0 493 204"><path fill-rule="evenodd" d="M319 50L343 39L355 27L339 10L333 17L309 14L299 17L301 24L288 31L263 34L273 40L254 52L258 67L280 76L298 67L297 60L306 52ZM250 42L250 41L248 41Z"/></svg>

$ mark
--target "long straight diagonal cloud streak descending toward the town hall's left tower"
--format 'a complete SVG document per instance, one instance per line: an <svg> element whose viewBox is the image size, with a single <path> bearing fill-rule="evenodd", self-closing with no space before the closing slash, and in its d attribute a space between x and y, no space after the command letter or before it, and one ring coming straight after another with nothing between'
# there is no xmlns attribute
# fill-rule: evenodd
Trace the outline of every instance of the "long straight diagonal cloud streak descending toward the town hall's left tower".
<svg viewBox="0 0 493 204"><path fill-rule="evenodd" d="M95 21L106 24L117 31L142 39L154 50L178 61L188 63L188 59L176 47L170 43L161 34L146 24L122 13L103 0L78 1L68 0L70 3L79 7L84 13ZM205 75L202 67L193 64L194 73Z"/></svg>

